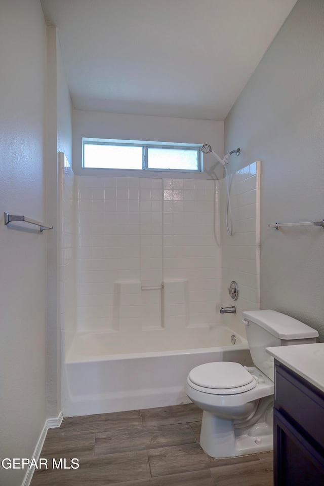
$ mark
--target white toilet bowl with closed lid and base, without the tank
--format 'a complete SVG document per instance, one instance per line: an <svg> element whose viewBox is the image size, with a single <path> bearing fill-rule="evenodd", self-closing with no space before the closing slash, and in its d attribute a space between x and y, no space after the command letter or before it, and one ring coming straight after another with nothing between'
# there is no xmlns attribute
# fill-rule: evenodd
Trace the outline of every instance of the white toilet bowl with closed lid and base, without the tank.
<svg viewBox="0 0 324 486"><path fill-rule="evenodd" d="M270 450L273 390L274 383L256 367L215 362L191 370L185 391L204 411L199 438L204 451L233 457Z"/></svg>

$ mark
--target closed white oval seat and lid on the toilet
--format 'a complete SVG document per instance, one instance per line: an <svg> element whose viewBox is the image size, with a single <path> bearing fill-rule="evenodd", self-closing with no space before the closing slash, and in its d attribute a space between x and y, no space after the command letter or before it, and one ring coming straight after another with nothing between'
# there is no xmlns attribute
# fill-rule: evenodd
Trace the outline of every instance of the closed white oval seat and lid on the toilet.
<svg viewBox="0 0 324 486"><path fill-rule="evenodd" d="M197 366L190 371L187 382L192 388L213 395L244 393L257 384L242 365L231 361Z"/></svg>

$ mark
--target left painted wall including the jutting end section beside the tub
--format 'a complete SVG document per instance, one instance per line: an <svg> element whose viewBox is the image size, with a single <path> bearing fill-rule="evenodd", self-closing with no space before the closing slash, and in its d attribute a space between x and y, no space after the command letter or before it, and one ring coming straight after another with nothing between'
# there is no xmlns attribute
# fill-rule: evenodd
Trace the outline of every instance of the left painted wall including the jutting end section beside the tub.
<svg viewBox="0 0 324 486"><path fill-rule="evenodd" d="M57 152L72 158L71 100L39 0L3 2L0 35L2 211L53 225L0 222L1 457L30 458L61 410ZM16 486L25 473L1 468L1 482Z"/></svg>

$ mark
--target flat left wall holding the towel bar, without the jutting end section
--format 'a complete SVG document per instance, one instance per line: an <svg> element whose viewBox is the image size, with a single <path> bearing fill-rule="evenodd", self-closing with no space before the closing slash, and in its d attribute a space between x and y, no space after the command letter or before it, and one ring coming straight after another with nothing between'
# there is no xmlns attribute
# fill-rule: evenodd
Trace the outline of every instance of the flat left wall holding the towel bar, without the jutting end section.
<svg viewBox="0 0 324 486"><path fill-rule="evenodd" d="M46 420L48 235L26 223L5 226L3 211L46 219L46 26L38 0L1 3L0 45L0 456L31 457ZM25 472L0 468L0 482L17 486Z"/></svg>

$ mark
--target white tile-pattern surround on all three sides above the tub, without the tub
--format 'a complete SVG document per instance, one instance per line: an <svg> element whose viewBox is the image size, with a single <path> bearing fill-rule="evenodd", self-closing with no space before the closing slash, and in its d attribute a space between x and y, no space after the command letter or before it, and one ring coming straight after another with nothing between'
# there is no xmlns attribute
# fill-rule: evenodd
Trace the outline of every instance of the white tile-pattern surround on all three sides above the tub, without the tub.
<svg viewBox="0 0 324 486"><path fill-rule="evenodd" d="M240 312L229 322L219 315L218 303L228 300L221 300L224 272L229 281L236 277L239 282L239 311L259 305L260 163L234 175L229 245L227 240L221 245L223 185L216 180L73 176L65 167L65 332L220 322L244 335Z"/></svg>

